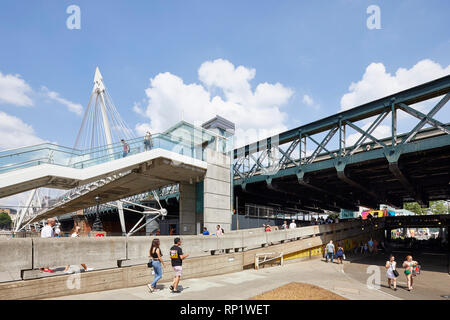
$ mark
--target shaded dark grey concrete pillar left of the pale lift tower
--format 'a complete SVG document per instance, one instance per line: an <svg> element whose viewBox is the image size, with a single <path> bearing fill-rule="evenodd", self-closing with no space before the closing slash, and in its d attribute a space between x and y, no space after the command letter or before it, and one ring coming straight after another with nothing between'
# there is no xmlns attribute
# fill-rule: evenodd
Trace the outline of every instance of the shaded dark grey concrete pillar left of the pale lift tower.
<svg viewBox="0 0 450 320"><path fill-rule="evenodd" d="M196 234L195 184L180 183L180 234Z"/></svg>

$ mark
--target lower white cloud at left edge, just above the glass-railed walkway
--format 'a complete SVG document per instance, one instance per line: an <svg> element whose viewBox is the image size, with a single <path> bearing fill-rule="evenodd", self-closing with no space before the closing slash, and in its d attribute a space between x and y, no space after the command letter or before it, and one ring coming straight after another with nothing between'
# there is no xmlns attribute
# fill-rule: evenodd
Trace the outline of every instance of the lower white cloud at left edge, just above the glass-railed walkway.
<svg viewBox="0 0 450 320"><path fill-rule="evenodd" d="M31 125L0 111L0 150L14 149L44 143Z"/></svg>

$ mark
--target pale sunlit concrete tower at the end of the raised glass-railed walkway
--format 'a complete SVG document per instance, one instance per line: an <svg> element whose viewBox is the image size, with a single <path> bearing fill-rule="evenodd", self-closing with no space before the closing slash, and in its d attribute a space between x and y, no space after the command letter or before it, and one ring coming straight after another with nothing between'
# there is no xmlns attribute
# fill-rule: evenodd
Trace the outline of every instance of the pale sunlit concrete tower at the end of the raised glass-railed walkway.
<svg viewBox="0 0 450 320"><path fill-rule="evenodd" d="M203 226L213 233L220 224L226 233L231 230L232 219L230 157L211 149L205 152L208 169L203 186Z"/></svg>

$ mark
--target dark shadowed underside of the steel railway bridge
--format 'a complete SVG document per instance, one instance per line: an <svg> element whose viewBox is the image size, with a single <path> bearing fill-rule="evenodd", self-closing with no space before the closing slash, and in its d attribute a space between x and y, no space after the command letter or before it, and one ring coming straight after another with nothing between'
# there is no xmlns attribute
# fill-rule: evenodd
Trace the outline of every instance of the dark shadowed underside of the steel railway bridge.
<svg viewBox="0 0 450 320"><path fill-rule="evenodd" d="M404 202L450 198L450 145L403 154L398 166L389 165L386 157L348 163L344 174L334 166L307 172L303 179L292 174L259 179L235 186L239 202L318 211L357 210L357 206L377 207L390 204L402 207ZM320 210L319 210L320 211Z"/></svg>

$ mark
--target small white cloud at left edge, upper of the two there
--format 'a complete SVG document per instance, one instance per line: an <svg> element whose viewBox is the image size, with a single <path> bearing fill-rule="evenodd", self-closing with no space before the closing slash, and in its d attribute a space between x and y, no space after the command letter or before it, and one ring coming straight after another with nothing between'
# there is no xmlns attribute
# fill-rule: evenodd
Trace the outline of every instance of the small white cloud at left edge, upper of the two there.
<svg viewBox="0 0 450 320"><path fill-rule="evenodd" d="M20 75L3 75L0 72L0 103L29 107L33 105L29 96L32 93L33 90Z"/></svg>

